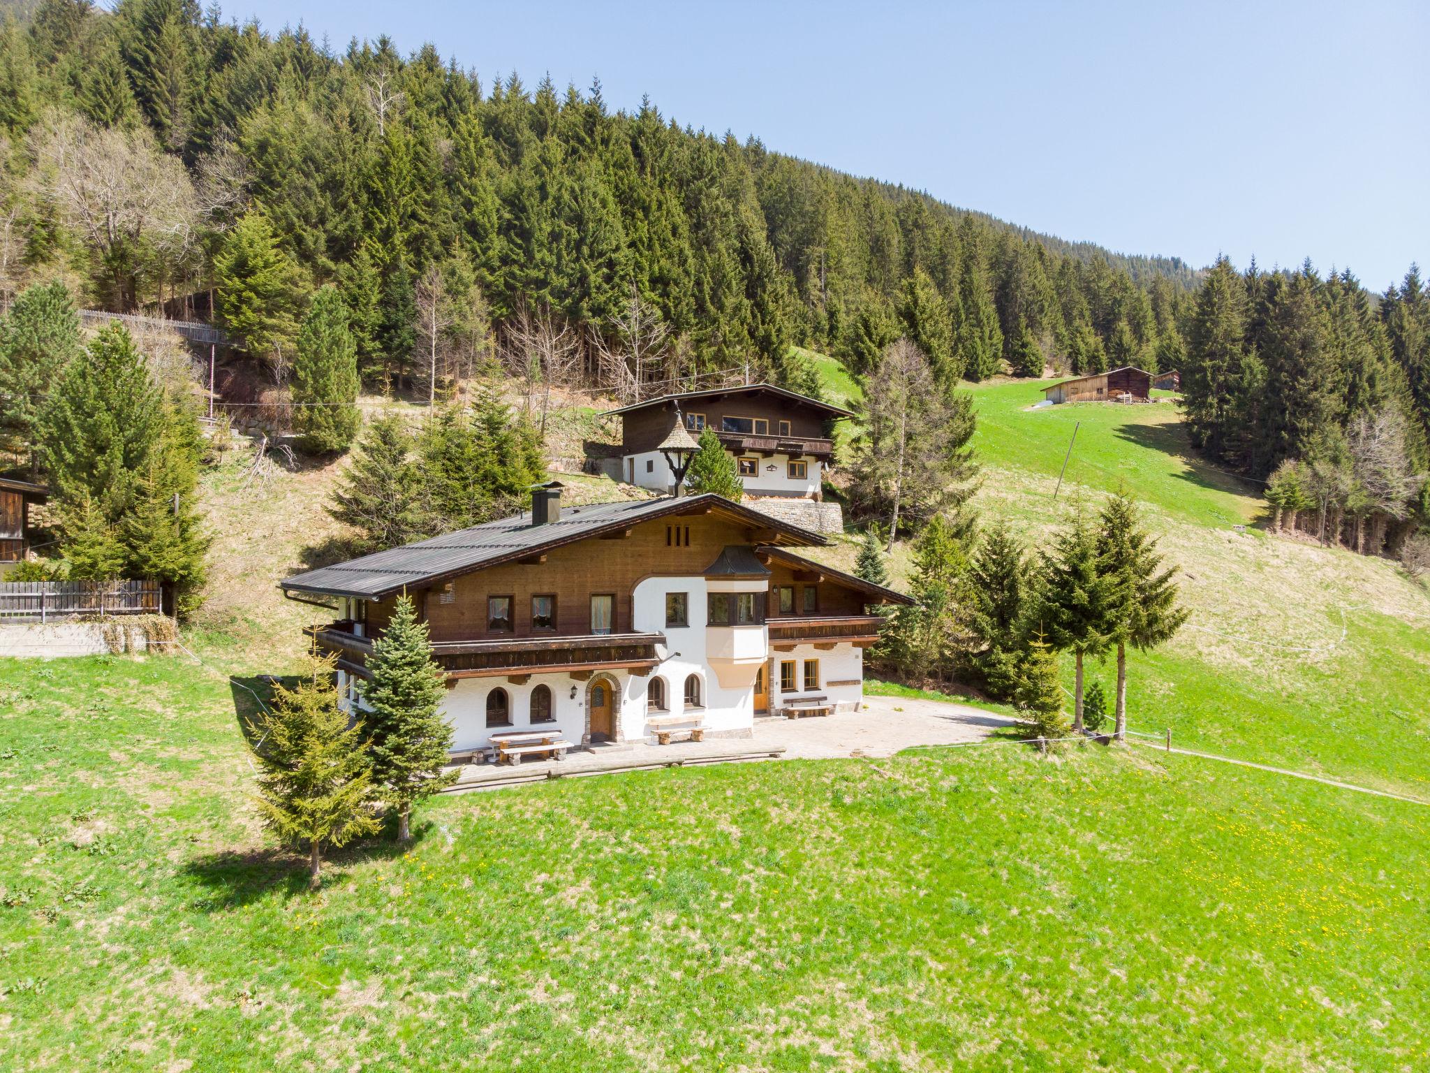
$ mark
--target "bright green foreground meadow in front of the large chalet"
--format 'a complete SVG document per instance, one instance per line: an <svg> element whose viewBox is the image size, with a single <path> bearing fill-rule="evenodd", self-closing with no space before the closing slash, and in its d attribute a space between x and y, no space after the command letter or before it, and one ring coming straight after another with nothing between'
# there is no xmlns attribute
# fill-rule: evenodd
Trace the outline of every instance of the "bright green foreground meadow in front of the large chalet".
<svg viewBox="0 0 1430 1073"><path fill-rule="evenodd" d="M0 1067L1002 1070L1430 1062L1430 811L1011 745L423 807L317 896L229 685L11 664Z"/></svg>

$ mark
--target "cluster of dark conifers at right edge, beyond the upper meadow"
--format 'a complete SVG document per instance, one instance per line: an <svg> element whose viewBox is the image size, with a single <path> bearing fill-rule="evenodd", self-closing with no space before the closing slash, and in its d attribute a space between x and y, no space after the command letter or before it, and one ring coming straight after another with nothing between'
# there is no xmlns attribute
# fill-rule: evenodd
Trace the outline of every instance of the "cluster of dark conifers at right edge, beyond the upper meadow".
<svg viewBox="0 0 1430 1073"><path fill-rule="evenodd" d="M1430 518L1430 296L1416 266L1377 299L1350 272L1238 273L1223 258L1184 335L1191 441L1267 482L1273 528L1380 554Z"/></svg>

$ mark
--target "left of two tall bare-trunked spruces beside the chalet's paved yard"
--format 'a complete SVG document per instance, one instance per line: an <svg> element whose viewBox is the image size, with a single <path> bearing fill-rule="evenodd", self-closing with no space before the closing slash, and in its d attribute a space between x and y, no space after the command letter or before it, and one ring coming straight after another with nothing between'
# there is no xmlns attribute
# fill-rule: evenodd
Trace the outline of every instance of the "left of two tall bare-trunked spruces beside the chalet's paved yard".
<svg viewBox="0 0 1430 1073"><path fill-rule="evenodd" d="M1081 505L1042 555L1038 624L1055 650L1072 652L1072 730L1083 730L1083 657L1107 650L1110 579L1098 572L1097 531Z"/></svg>

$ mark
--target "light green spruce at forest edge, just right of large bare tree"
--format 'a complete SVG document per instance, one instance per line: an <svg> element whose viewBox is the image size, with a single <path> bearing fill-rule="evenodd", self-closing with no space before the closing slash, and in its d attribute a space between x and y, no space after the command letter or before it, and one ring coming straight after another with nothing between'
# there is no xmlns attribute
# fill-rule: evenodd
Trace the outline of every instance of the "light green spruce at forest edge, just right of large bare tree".
<svg viewBox="0 0 1430 1073"><path fill-rule="evenodd" d="M213 259L213 280L219 318L249 353L292 351L297 270L267 216L253 209L239 217Z"/></svg>

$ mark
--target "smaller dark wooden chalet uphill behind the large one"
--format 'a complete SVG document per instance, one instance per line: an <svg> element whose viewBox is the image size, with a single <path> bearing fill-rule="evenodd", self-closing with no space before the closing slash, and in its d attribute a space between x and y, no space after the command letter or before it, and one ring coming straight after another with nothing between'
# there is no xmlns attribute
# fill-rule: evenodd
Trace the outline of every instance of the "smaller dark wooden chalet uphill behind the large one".
<svg viewBox="0 0 1430 1073"><path fill-rule="evenodd" d="M658 492L675 476L661 452L676 419L692 436L709 428L735 458L745 495L822 499L824 472L834 455L829 428L854 416L769 383L664 395L608 411L621 416L621 476Z"/></svg>

